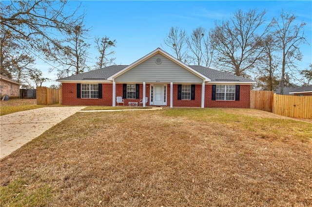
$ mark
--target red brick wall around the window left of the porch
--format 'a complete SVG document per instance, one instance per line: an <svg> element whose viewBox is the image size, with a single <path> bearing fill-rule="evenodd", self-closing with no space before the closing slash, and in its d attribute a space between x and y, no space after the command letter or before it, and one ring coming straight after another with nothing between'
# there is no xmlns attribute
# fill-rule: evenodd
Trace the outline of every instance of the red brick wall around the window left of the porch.
<svg viewBox="0 0 312 207"><path fill-rule="evenodd" d="M101 99L78 99L77 84L62 84L63 105L113 105L113 84L102 84Z"/></svg>

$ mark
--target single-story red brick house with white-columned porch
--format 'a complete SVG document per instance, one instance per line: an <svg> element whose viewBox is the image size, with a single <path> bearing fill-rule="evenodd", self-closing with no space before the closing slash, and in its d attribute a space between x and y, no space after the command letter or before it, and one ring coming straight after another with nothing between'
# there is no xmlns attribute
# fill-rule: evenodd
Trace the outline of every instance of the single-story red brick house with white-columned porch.
<svg viewBox="0 0 312 207"><path fill-rule="evenodd" d="M124 104L170 107L249 108L255 82L202 66L187 66L157 48L131 65L115 65L80 73L62 83L64 105L116 106Z"/></svg>

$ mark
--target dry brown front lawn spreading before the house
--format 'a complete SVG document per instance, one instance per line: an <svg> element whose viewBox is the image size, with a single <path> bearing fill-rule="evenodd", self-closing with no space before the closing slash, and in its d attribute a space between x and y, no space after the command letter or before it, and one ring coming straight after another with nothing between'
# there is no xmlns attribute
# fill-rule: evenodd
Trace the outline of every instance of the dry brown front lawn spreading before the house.
<svg viewBox="0 0 312 207"><path fill-rule="evenodd" d="M269 114L77 113L1 160L0 204L312 206L312 124Z"/></svg>

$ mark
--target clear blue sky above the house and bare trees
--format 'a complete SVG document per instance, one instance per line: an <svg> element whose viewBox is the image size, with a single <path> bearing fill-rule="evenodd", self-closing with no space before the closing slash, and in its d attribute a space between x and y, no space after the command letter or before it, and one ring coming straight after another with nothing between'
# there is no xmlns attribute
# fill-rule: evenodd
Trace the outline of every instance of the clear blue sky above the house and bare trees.
<svg viewBox="0 0 312 207"><path fill-rule="evenodd" d="M185 29L188 34L201 26L207 30L214 27L215 20L230 18L235 11L241 9L266 10L268 22L278 17L281 9L291 11L297 16L298 23L304 21L305 35L310 45L301 48L304 59L301 67L307 68L312 63L312 1L77 1L86 13L85 25L90 27L90 37L108 36L116 39L116 64L129 65L137 59L165 47L163 40L172 26ZM73 10L74 8L67 8ZM90 39L93 43L93 39ZM89 51L94 65L98 56L95 49ZM40 62L40 61L39 61ZM56 79L56 75L48 73L51 66L39 63L45 77ZM55 84L45 83L46 86Z"/></svg>

